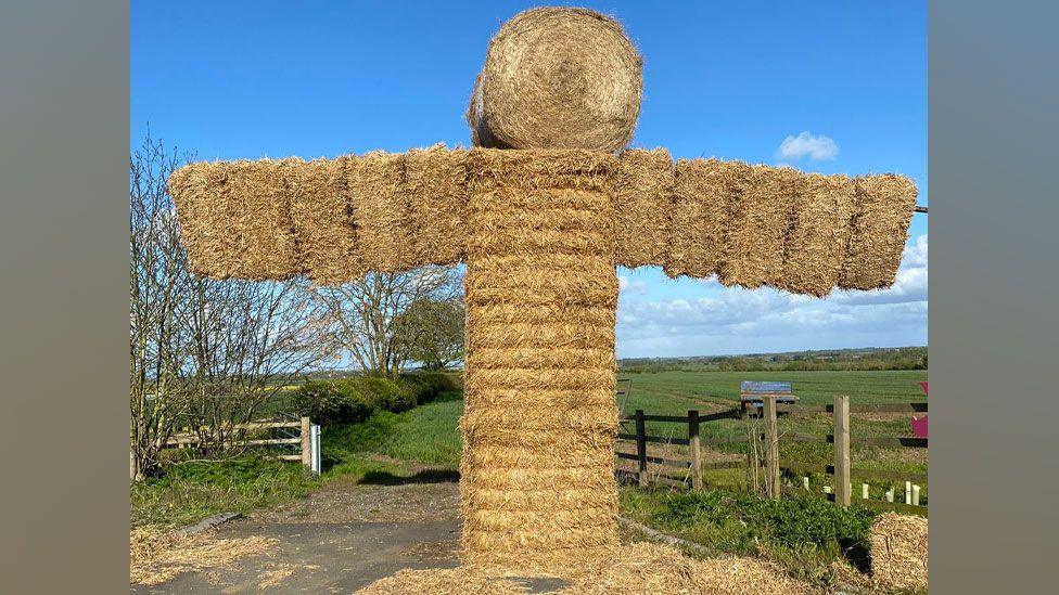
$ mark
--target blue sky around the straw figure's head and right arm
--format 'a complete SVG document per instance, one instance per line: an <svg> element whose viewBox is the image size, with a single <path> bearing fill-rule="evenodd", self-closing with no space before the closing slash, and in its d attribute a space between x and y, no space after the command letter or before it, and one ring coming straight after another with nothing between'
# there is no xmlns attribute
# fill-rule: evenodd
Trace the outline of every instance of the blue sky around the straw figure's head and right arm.
<svg viewBox="0 0 1059 595"><path fill-rule="evenodd" d="M557 2L561 4L562 2ZM131 4L131 146L205 159L469 144L489 37L532 2ZM926 2L578 2L645 55L633 144L927 187ZM893 289L827 299L620 270L620 357L927 344L927 217Z"/></svg>

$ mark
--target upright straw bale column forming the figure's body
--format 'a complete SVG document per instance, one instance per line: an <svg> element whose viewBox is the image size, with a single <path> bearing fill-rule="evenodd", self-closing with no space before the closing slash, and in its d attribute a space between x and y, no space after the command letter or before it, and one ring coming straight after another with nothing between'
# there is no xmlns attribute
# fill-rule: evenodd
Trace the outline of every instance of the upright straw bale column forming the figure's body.
<svg viewBox="0 0 1059 595"><path fill-rule="evenodd" d="M465 562L556 572L617 546L614 163L471 152Z"/></svg>

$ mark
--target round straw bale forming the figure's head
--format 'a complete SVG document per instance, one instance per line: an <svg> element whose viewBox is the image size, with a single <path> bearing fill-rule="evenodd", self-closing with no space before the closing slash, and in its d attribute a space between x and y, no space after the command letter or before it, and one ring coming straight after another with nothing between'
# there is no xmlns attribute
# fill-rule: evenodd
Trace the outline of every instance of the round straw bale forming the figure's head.
<svg viewBox="0 0 1059 595"><path fill-rule="evenodd" d="M474 144L617 151L640 113L642 60L595 11L533 9L489 42L467 119Z"/></svg>

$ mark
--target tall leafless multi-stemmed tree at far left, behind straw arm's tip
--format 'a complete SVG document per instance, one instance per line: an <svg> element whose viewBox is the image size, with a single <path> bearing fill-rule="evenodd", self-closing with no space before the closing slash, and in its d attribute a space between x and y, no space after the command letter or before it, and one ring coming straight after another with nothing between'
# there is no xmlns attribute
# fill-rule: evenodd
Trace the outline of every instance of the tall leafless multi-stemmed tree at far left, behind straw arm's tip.
<svg viewBox="0 0 1059 595"><path fill-rule="evenodd" d="M284 379L332 346L324 308L303 281L214 281L192 274L166 191L179 165L150 137L129 164L129 476L158 468L188 426L217 452Z"/></svg>

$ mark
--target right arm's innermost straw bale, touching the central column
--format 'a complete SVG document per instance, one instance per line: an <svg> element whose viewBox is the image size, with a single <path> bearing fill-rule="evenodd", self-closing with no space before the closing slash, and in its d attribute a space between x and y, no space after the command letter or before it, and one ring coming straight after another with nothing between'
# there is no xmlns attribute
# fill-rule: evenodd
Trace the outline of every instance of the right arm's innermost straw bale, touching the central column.
<svg viewBox="0 0 1059 595"><path fill-rule="evenodd" d="M675 177L673 159L664 148L622 153L614 174L617 264L665 262Z"/></svg>

